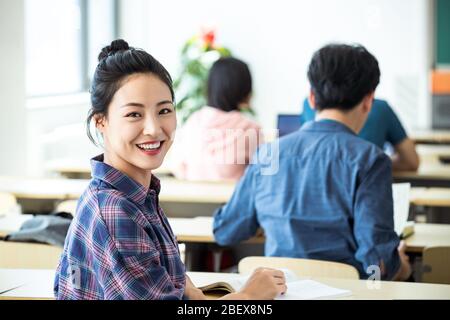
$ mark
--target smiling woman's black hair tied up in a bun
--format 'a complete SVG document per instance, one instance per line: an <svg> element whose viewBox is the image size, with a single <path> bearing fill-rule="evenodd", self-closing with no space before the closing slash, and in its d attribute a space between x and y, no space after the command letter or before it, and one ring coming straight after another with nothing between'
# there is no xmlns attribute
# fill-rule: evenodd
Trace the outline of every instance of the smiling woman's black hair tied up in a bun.
<svg viewBox="0 0 450 320"><path fill-rule="evenodd" d="M96 114L107 115L114 94L128 76L136 73L155 75L169 87L172 100L175 100L169 72L144 50L130 47L126 41L117 39L102 49L98 61L90 90L91 109L86 119L87 135L95 145L97 143L90 130L92 117Z"/></svg>

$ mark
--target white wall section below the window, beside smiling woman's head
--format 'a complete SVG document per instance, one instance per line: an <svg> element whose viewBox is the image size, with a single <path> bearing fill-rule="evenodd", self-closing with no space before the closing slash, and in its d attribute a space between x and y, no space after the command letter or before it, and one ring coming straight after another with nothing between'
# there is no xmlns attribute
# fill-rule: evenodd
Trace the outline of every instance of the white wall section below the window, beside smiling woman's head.
<svg viewBox="0 0 450 320"><path fill-rule="evenodd" d="M102 152L86 135L89 105L87 93L28 101L29 176L54 174L55 161L89 166L89 159Z"/></svg>

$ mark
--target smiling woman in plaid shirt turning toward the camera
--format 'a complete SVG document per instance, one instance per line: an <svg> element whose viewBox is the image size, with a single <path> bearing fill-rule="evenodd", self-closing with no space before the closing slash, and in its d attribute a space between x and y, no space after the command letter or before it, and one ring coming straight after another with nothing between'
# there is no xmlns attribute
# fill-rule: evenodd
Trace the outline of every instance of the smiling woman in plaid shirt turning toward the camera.
<svg viewBox="0 0 450 320"><path fill-rule="evenodd" d="M115 40L103 48L91 88L89 127L104 154L91 160L55 278L58 299L204 299L185 274L152 175L176 129L172 80L150 54ZM271 299L284 274L261 269L225 299Z"/></svg>

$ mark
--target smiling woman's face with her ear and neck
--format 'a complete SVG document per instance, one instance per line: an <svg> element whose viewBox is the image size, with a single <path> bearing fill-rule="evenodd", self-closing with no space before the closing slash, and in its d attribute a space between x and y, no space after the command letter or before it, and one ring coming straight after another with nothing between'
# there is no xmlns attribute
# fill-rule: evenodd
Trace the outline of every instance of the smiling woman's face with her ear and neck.
<svg viewBox="0 0 450 320"><path fill-rule="evenodd" d="M103 136L104 163L149 185L151 170L161 166L176 129L167 85L153 74L129 76L114 94L108 115L94 119Z"/></svg>

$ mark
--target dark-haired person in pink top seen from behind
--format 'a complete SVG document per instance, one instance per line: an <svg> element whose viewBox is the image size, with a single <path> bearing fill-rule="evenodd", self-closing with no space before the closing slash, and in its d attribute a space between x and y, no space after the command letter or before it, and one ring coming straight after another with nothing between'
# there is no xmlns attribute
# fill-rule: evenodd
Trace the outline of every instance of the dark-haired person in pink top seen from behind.
<svg viewBox="0 0 450 320"><path fill-rule="evenodd" d="M174 174L188 180L238 180L262 142L249 108L252 78L236 58L217 60L208 77L208 105L177 131Z"/></svg>

